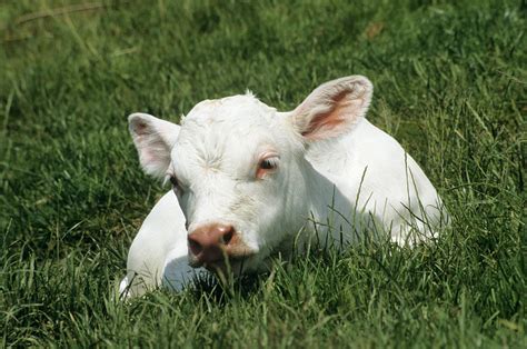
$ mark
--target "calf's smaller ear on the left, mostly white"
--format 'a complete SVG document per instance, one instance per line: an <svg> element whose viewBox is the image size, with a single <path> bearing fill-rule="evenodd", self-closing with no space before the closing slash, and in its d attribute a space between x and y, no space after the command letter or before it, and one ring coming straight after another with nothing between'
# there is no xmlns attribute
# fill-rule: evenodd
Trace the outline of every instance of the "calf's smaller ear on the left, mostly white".
<svg viewBox="0 0 527 349"><path fill-rule="evenodd" d="M146 173L163 178L170 166L170 151L179 134L179 126L148 113L128 117L128 128Z"/></svg>

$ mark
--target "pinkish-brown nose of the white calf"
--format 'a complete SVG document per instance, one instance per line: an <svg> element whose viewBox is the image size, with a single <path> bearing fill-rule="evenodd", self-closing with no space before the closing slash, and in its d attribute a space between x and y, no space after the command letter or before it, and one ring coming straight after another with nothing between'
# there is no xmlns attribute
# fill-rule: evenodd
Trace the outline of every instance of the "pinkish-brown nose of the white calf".
<svg viewBox="0 0 527 349"><path fill-rule="evenodd" d="M233 235L235 228L232 226L210 225L200 227L188 236L190 252L202 263L221 261Z"/></svg>

